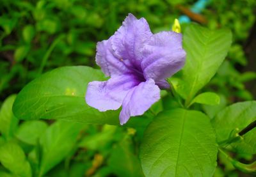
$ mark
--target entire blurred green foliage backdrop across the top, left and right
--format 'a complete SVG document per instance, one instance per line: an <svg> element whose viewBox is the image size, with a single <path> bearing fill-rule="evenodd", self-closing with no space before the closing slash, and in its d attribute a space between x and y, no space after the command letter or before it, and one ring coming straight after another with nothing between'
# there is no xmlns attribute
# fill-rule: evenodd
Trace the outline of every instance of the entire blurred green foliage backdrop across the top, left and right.
<svg viewBox="0 0 256 177"><path fill-rule="evenodd" d="M152 31L157 32L170 30L173 20L182 15L177 4L189 8L193 3L192 0L3 0L0 6L0 98L17 93L24 84L52 68L95 66L96 42L108 39L129 12L145 17ZM236 3L215 0L210 1L203 12L206 25L211 29L232 29L234 43L228 55L232 66L246 65L243 44L255 20L255 6L253 0ZM236 96L252 98L244 91L241 79L237 79L236 70L227 68L225 66L225 73L220 73L217 84L228 82L231 88L243 90L236 92Z"/></svg>

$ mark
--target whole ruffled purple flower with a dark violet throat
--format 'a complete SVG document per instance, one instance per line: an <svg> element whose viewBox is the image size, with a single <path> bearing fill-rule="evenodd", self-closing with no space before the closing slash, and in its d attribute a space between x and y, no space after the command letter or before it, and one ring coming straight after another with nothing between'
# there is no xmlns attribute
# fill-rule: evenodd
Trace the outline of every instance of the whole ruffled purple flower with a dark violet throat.
<svg viewBox="0 0 256 177"><path fill-rule="evenodd" d="M97 43L96 63L108 81L88 84L86 102L99 111L122 105L120 124L142 115L169 88L167 77L178 72L186 58L182 35L173 31L152 34L144 18L129 15L115 35Z"/></svg>

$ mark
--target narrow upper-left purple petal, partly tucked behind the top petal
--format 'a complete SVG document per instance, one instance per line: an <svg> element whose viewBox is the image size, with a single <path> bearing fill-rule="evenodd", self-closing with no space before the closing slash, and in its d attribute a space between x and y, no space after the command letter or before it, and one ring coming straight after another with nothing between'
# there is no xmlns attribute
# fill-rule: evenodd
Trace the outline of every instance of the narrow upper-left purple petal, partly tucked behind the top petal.
<svg viewBox="0 0 256 177"><path fill-rule="evenodd" d="M122 75L127 72L127 66L114 55L111 45L112 37L97 43L96 63L107 76Z"/></svg>

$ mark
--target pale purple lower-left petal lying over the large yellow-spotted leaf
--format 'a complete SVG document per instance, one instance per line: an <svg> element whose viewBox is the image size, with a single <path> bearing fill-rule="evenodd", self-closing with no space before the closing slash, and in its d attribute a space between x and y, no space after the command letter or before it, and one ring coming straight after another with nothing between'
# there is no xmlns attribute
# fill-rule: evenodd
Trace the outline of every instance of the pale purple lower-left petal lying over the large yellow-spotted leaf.
<svg viewBox="0 0 256 177"><path fill-rule="evenodd" d="M132 75L111 77L108 81L93 81L88 84L86 103L99 111L118 109L125 96L140 82Z"/></svg>

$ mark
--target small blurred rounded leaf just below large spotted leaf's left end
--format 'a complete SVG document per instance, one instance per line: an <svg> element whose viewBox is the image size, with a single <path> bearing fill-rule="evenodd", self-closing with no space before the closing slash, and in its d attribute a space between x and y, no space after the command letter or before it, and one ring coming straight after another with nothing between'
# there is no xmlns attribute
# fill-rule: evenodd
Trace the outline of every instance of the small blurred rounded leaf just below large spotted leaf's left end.
<svg viewBox="0 0 256 177"><path fill-rule="evenodd" d="M44 121L25 121L17 130L16 137L20 141L35 145L47 127L48 125Z"/></svg>

